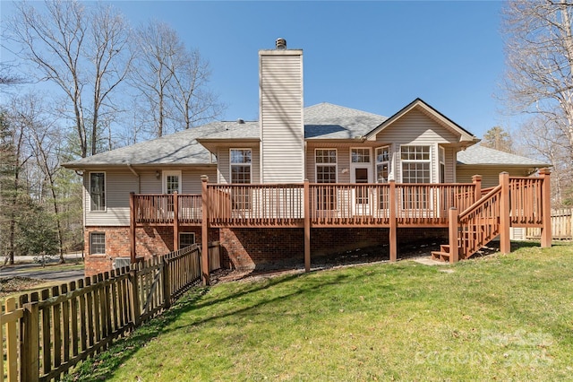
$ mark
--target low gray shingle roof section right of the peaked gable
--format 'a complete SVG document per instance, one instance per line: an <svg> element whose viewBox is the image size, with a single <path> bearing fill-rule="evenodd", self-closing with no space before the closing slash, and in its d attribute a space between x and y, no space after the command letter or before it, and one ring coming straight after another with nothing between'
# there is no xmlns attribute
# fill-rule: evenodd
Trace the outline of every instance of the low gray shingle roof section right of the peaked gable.
<svg viewBox="0 0 573 382"><path fill-rule="evenodd" d="M481 144L475 144L458 152L458 166L527 166L543 168L551 165L542 161L535 161L521 155L511 154L509 152L500 152L499 150L484 147Z"/></svg>

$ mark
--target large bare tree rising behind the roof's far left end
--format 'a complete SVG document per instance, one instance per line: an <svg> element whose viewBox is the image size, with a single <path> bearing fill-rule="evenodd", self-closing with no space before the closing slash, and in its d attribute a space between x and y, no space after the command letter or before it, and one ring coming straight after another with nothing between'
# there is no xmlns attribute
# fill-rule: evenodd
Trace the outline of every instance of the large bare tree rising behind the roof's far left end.
<svg viewBox="0 0 573 382"><path fill-rule="evenodd" d="M78 1L47 0L44 13L25 2L15 6L8 38L21 44L19 56L35 65L39 81L64 92L81 157L96 153L99 116L105 106L113 111L106 101L131 63L126 22L103 4L93 12Z"/></svg>

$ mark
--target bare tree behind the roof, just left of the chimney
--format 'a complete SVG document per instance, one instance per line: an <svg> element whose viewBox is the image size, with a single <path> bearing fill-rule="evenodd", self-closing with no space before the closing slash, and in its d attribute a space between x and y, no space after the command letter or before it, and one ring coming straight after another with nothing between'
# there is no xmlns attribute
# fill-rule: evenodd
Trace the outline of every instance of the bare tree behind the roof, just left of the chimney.
<svg viewBox="0 0 573 382"><path fill-rule="evenodd" d="M208 89L209 63L200 53L187 50L177 32L162 22L150 22L137 35L133 85L151 112L153 135L218 117L223 107Z"/></svg>

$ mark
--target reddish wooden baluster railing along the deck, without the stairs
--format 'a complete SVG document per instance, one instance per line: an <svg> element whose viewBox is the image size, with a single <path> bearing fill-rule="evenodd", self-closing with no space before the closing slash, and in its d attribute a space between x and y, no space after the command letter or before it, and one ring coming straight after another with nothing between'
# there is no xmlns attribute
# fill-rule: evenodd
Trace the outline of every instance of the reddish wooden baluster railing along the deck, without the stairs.
<svg viewBox="0 0 573 382"><path fill-rule="evenodd" d="M319 184L309 187L316 227L389 226L390 206L400 225L448 224L448 209L475 202L475 184ZM390 202L390 188L396 197ZM304 184L208 185L212 227L302 227ZM392 205L393 203L393 205ZM175 214L175 206L177 213ZM201 195L133 195L136 225L201 225Z"/></svg>

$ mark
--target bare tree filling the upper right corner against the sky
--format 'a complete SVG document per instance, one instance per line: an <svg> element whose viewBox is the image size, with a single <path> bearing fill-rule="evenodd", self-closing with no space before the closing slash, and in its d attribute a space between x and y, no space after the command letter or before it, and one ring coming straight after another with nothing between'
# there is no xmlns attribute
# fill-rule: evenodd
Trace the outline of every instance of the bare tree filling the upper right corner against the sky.
<svg viewBox="0 0 573 382"><path fill-rule="evenodd" d="M504 9L512 109L543 117L573 161L573 4L513 0ZM538 122L536 122L538 124ZM573 174L569 174L573 176Z"/></svg>

